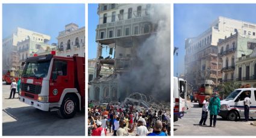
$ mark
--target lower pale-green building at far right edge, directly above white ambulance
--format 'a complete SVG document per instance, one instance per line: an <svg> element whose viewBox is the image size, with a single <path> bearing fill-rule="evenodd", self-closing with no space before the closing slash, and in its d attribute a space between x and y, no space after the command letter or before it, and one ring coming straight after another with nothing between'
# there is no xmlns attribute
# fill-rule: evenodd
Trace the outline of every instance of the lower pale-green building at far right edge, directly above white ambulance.
<svg viewBox="0 0 256 138"><path fill-rule="evenodd" d="M238 58L236 62L236 80L242 85L256 87L256 46L250 55Z"/></svg>

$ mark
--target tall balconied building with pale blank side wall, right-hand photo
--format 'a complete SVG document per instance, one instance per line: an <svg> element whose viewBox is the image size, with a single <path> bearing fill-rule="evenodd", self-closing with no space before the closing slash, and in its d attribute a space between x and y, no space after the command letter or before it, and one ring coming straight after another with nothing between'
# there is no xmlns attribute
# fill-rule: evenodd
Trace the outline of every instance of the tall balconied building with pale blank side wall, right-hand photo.
<svg viewBox="0 0 256 138"><path fill-rule="evenodd" d="M249 55L256 46L256 39L242 37L239 33L220 39L218 44L220 63L222 63L222 82L236 80L236 62Z"/></svg>

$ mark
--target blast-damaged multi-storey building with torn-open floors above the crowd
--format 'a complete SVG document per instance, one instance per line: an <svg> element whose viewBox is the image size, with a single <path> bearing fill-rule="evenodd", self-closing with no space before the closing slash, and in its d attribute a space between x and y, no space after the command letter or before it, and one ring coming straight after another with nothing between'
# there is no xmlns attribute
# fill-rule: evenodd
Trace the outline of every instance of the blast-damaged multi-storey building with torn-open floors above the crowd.
<svg viewBox="0 0 256 138"><path fill-rule="evenodd" d="M143 71L138 49L142 49L145 40L157 34L158 28L158 24L152 22L152 12L154 4L98 5L98 46L95 71L89 82L89 100L120 101L133 92L133 86L136 86L126 77L133 76L135 70ZM113 69L113 73L102 76L103 67Z"/></svg>

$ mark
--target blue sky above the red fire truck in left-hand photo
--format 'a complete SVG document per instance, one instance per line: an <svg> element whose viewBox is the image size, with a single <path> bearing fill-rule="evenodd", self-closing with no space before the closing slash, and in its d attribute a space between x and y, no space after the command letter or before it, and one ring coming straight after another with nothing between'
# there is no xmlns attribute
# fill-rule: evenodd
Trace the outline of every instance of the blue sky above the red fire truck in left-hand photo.
<svg viewBox="0 0 256 138"><path fill-rule="evenodd" d="M85 26L84 4L3 4L2 37L11 35L17 27L50 35L57 43L58 32L65 25L76 23Z"/></svg>

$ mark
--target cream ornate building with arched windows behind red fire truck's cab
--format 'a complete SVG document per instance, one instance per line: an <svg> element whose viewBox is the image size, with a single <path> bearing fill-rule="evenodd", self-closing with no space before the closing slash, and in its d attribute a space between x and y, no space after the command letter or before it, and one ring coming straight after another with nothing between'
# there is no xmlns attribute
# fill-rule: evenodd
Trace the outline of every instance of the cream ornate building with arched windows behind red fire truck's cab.
<svg viewBox="0 0 256 138"><path fill-rule="evenodd" d="M69 23L65 30L58 33L58 56L85 57L85 28L78 28L75 23Z"/></svg>

